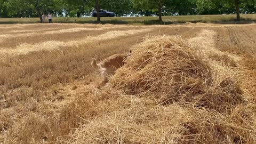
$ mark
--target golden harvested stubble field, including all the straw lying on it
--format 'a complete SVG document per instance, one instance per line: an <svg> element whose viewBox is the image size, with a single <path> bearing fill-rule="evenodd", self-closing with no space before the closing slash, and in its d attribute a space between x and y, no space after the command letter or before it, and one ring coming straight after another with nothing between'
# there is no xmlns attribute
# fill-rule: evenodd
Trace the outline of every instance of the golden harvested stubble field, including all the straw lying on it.
<svg viewBox="0 0 256 144"><path fill-rule="evenodd" d="M256 25L0 27L0 143L256 143ZM92 58L132 56L107 85Z"/></svg>

